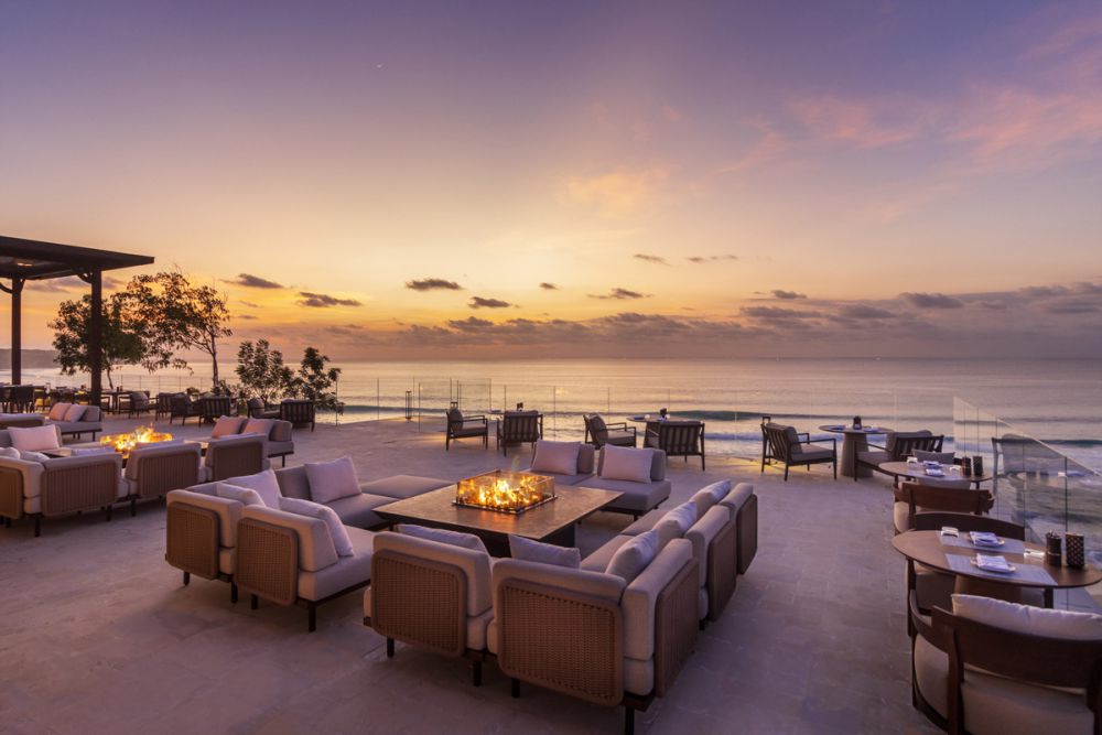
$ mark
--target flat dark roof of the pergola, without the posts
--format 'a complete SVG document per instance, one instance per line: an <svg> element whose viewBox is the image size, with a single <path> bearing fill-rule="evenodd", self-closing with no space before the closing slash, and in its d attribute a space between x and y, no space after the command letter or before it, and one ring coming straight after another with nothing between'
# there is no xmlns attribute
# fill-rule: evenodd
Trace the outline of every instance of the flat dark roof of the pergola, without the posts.
<svg viewBox="0 0 1102 735"><path fill-rule="evenodd" d="M41 281L93 271L148 266L149 256L78 248L74 245L24 240L0 235L0 278Z"/></svg>

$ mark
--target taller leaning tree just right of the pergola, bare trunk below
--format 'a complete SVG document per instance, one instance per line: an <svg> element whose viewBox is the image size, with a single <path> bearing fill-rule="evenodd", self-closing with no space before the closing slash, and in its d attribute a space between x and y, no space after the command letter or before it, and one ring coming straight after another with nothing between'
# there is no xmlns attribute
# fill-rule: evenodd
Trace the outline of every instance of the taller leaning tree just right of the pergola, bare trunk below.
<svg viewBox="0 0 1102 735"><path fill-rule="evenodd" d="M209 285L192 285L183 273L164 271L137 275L127 285L129 305L150 333L151 342L210 356L212 386L217 388L218 339L233 335L226 326L226 298ZM175 358L177 367L187 361Z"/></svg>

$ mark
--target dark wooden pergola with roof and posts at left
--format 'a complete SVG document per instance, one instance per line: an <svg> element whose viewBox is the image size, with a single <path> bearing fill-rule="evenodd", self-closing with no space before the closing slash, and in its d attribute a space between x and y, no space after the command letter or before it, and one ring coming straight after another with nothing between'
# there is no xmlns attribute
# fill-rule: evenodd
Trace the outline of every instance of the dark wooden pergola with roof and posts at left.
<svg viewBox="0 0 1102 735"><path fill-rule="evenodd" d="M0 235L0 279L11 279L0 290L11 294L11 381L22 382L23 376L23 285L28 281L47 281L76 275L91 287L91 318L88 324L88 363L91 371L91 403L99 404L104 364L104 271L134 266L149 266L149 256L112 252L73 245L25 240Z"/></svg>

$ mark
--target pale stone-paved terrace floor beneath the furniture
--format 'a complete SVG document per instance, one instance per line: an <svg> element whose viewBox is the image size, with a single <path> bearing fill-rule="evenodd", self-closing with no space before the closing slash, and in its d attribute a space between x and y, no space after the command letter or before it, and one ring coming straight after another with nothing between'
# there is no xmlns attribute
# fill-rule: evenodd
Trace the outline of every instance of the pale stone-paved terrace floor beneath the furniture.
<svg viewBox="0 0 1102 735"><path fill-rule="evenodd" d="M148 423L148 419L145 421ZM109 432L137 421L111 420ZM162 422L163 423L163 422ZM180 435L197 436L194 424ZM360 480L414 474L455 480L509 466L527 450L444 452L439 426L404 421L295 431L293 463L350 455ZM723 618L700 636L673 692L637 716L647 733L932 732L910 704L904 562L890 548L887 480L831 479L709 458L670 462L668 507L732 477L759 496L759 550ZM628 517L596 514L583 555ZM164 562L164 506L0 529L0 732L14 733L616 733L605 710L526 687L509 696L491 664L383 639L363 625L361 593L303 608L247 598Z"/></svg>

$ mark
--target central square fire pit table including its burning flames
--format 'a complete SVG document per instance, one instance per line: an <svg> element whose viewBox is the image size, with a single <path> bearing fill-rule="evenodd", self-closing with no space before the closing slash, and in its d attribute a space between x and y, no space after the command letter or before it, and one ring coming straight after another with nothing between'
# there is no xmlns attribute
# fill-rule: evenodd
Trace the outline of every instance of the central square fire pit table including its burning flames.
<svg viewBox="0 0 1102 735"><path fill-rule="evenodd" d="M512 498L503 499L506 490L500 483L518 485L514 489L528 500L527 507L520 507ZM375 512L392 523L474 533L490 554L508 556L510 533L573 547L574 525L619 496L620 493L588 487L569 486L555 490L554 480L545 476L497 471L379 506ZM487 502L478 505L479 499Z"/></svg>

